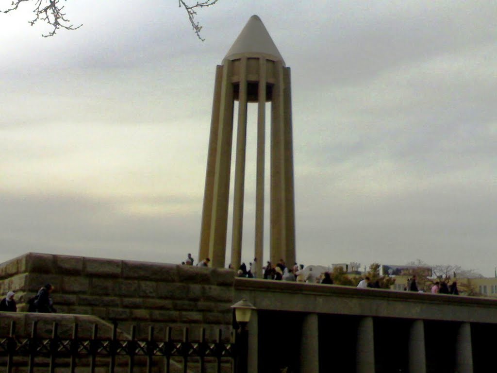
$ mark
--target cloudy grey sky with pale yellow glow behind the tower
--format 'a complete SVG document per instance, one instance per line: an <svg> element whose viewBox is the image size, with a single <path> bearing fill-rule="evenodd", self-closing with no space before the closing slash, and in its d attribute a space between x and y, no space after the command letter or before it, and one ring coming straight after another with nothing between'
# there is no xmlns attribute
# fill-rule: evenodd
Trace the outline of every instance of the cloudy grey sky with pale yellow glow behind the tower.
<svg viewBox="0 0 497 373"><path fill-rule="evenodd" d="M0 14L0 262L197 260L215 68L257 14L292 74L298 262L494 276L497 2L219 0L203 42L175 0L65 5L83 27L51 38Z"/></svg>

